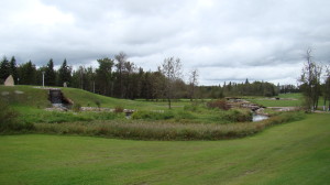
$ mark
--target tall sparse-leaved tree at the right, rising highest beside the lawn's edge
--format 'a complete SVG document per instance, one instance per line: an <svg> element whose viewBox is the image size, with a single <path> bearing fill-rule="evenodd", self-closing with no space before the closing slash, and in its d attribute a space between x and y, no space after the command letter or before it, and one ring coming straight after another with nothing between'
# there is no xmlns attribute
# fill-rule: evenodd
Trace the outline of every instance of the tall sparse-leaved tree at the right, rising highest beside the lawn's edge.
<svg viewBox="0 0 330 185"><path fill-rule="evenodd" d="M306 106L310 110L316 110L318 107L318 100L320 96L320 77L322 73L322 66L312 61L311 48L306 51L305 66L300 81L302 83L302 89L306 98Z"/></svg>

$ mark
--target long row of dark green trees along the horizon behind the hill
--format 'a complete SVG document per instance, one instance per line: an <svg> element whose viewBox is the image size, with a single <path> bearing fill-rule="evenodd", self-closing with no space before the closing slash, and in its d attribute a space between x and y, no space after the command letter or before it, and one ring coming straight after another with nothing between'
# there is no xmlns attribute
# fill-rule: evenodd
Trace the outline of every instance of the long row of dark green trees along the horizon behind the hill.
<svg viewBox="0 0 330 185"><path fill-rule="evenodd" d="M64 59L58 69L54 68L51 58L44 66L36 67L31 61L18 65L15 57L3 57L0 65L0 80L12 75L19 85L59 86L64 83L68 87L80 88L91 92L125 99L166 99L176 98L223 98L224 96L275 96L279 88L266 81L224 83L219 86L199 86L198 70L188 74L188 81L183 79L182 62L179 58L168 57L158 66L157 70L145 72L133 62L128 61L121 52L114 58L97 59L97 68L79 66L73 69Z"/></svg>

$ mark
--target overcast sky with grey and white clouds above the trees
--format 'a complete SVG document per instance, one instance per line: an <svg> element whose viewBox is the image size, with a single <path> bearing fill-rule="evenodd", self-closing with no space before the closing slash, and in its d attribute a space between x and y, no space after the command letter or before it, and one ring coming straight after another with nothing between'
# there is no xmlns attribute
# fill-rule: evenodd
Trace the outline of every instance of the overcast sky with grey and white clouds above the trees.
<svg viewBox="0 0 330 185"><path fill-rule="evenodd" d="M124 52L144 70L180 58L199 85L297 84L330 63L329 0L1 0L0 56L77 67Z"/></svg>

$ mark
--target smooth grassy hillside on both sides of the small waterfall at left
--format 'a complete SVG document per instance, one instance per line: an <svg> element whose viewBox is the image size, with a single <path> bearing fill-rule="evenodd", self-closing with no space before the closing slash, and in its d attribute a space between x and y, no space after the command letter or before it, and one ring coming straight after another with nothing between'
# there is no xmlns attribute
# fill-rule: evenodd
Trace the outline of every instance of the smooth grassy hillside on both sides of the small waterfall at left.
<svg viewBox="0 0 330 185"><path fill-rule="evenodd" d="M64 96L73 100L75 104L79 104L82 107L97 107L97 102L101 107L116 108L122 107L125 109L139 109L139 110L166 110L166 101L141 101L141 100L128 100L106 97L97 94L92 94L86 90L77 88L61 88ZM14 86L7 87L0 86L0 99L8 102L12 107L29 108L46 108L51 107L48 101L48 90L35 86ZM190 104L189 101L173 102L174 108L183 108L184 105Z"/></svg>

